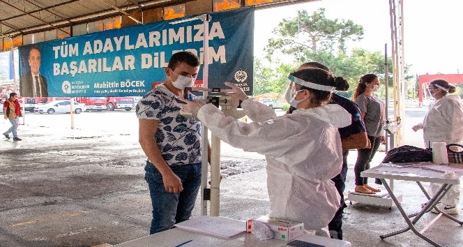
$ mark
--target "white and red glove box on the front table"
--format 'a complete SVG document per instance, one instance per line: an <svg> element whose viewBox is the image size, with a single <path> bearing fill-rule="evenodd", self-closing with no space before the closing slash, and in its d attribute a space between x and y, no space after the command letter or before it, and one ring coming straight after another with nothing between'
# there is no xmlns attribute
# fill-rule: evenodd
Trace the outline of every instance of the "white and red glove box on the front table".
<svg viewBox="0 0 463 247"><path fill-rule="evenodd" d="M268 216L260 216L259 218L246 220L246 232L252 233L252 225L256 221L264 223L270 227L273 231L274 239L291 241L304 234L304 223L292 220L282 220L279 218L270 218Z"/></svg>

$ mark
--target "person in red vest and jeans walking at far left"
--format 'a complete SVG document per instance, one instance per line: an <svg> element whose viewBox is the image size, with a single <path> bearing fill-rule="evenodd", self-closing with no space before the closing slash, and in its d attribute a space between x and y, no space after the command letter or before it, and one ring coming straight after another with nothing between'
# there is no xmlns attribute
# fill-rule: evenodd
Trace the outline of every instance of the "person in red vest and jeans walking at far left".
<svg viewBox="0 0 463 247"><path fill-rule="evenodd" d="M21 138L17 137L17 126L19 125L19 117L22 117L22 112L16 93L10 93L10 98L3 103L3 117L5 117L5 120L10 120L11 123L11 127L3 135L10 140L10 133L13 133L13 141L20 141Z"/></svg>

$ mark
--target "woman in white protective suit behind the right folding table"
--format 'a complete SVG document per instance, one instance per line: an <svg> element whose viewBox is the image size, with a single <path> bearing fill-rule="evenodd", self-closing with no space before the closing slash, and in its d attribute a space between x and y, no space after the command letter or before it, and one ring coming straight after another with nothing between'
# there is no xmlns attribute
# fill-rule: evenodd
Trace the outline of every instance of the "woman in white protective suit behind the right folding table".
<svg viewBox="0 0 463 247"><path fill-rule="evenodd" d="M429 92L436 101L430 106L423 123L413 126L413 130L423 129L425 147L432 147L432 142L446 142L446 144L463 144L463 109L461 103L447 96L454 93L455 87L445 80L434 80L429 84ZM460 98L460 97L458 97ZM442 184L431 183L428 193L434 195ZM447 214L458 214L460 202L460 186L454 185L443 196L438 207ZM432 209L433 213L438 213Z"/></svg>

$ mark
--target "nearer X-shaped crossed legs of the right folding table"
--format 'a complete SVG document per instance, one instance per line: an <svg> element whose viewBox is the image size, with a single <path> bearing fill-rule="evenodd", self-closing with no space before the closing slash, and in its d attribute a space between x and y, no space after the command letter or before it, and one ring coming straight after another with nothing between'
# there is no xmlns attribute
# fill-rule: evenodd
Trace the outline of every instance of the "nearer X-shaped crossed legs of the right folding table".
<svg viewBox="0 0 463 247"><path fill-rule="evenodd" d="M418 213L418 215L416 216L416 218L413 219L413 222L409 219L409 216L407 216L407 214L405 214L405 211L404 209L402 208L402 205L400 204L400 202L397 200L397 197L395 197L394 193L393 193L393 190L390 189L388 183L386 182L386 179L381 179L381 182L383 182L383 185L384 185L384 188L386 188L386 190L388 191L389 193L389 196L390 198L392 198L393 202L395 203L395 205L397 206L397 209L399 209L400 211L400 214L402 214L402 217L404 218L405 222L407 223L407 225L409 225L408 227L405 227L404 229L402 230L398 230L396 232L391 232L389 234L384 234L384 235L381 235L379 236L381 239L386 239L386 237L391 237L391 236L394 236L394 235L397 235L397 234L401 234L403 232L407 232L408 230L411 230L412 232L414 232L418 237L424 239L425 241L427 241L428 243L432 244L433 246L439 246L441 247L439 244L437 244L436 242L432 241L431 239L428 239L425 235L421 234L420 232L418 232L418 230L416 230L415 228L415 223L421 218L421 216L423 216L423 214L425 214L425 212L427 210L430 209L431 206L434 206L433 204L435 204L435 200L437 199L441 199L441 197L443 196L442 194L445 194L447 192L446 187L448 184L444 184L443 186L441 186L441 188L439 188L439 190L437 191L436 195L434 195L432 198L431 198L431 201L432 203L431 204L427 204L423 209L421 209L421 211ZM437 202L439 202L439 200L437 200Z"/></svg>

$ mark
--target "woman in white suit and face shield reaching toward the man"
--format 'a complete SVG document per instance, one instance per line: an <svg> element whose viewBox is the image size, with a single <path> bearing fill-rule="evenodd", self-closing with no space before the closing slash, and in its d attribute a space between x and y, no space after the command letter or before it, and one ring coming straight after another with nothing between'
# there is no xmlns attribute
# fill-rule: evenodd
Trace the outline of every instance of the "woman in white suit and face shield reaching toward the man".
<svg viewBox="0 0 463 247"><path fill-rule="evenodd" d="M340 173L342 149L337 128L351 124L350 114L340 105L326 105L342 77L308 68L289 75L287 101L297 107L292 114L277 117L235 84L234 100L253 121L243 123L225 115L214 105L195 100L183 107L224 142L244 151L264 154L270 216L304 223L306 230L328 237L328 223L339 207L340 195L332 179Z"/></svg>

